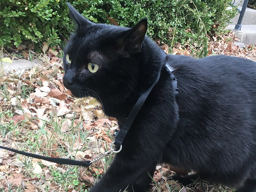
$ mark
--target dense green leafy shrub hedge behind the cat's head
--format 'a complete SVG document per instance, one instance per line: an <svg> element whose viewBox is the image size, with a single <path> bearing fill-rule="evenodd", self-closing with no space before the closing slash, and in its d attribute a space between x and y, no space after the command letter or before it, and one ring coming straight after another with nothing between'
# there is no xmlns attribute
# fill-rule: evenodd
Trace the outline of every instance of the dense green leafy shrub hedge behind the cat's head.
<svg viewBox="0 0 256 192"><path fill-rule="evenodd" d="M218 30L235 15L226 10L230 0L77 0L71 3L93 22L114 23L132 27L141 18L148 18L148 35L168 45L200 40ZM66 0L1 0L0 44L18 47L32 42L37 48L44 42L60 45L73 31ZM201 23L201 24L199 24ZM188 28L191 29L187 30Z"/></svg>

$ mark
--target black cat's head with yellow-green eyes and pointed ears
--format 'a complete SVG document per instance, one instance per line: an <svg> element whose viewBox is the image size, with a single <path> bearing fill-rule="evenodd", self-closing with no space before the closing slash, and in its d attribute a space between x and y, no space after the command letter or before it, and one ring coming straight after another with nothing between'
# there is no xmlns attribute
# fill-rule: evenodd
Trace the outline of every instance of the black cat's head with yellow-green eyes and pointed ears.
<svg viewBox="0 0 256 192"><path fill-rule="evenodd" d="M65 87L76 97L129 97L139 81L147 19L134 28L95 24L68 7L76 30L64 50Z"/></svg>

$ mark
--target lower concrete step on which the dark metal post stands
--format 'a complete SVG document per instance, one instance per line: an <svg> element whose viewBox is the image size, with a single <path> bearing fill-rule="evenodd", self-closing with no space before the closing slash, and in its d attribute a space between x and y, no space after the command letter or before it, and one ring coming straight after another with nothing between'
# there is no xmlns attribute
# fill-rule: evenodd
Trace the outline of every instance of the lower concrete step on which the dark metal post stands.
<svg viewBox="0 0 256 192"><path fill-rule="evenodd" d="M227 29L234 31L235 36L244 44L256 44L256 25L242 25L241 30L235 30L235 25L228 25Z"/></svg>

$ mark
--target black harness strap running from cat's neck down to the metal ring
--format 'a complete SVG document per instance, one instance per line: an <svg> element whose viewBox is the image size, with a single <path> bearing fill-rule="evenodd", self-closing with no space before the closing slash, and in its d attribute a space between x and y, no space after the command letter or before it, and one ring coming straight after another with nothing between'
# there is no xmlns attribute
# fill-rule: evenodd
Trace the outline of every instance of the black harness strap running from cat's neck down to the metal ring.
<svg viewBox="0 0 256 192"><path fill-rule="evenodd" d="M123 141L124 141L124 138L127 134L127 132L129 131L130 127L132 126L132 123L135 119L135 117L137 116L137 114L139 113L140 109L142 108L145 100L147 99L149 93L152 91L152 89L154 88L154 86L156 85L156 83L158 82L159 78L160 78L160 72L164 66L164 61L165 61L165 57L166 57L166 54L164 51L161 52L162 54L162 63L161 63L161 67L159 68L159 71L158 71L158 76L156 77L156 80L155 82L151 85L151 87L149 87L146 91L144 91L139 99L137 100L137 102L135 103L135 105L133 106L130 114L128 115L127 119L125 120L124 122L124 125L122 127L122 129L119 131L117 137L116 137L116 140L115 140L115 145L120 148Z"/></svg>

